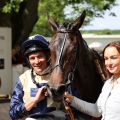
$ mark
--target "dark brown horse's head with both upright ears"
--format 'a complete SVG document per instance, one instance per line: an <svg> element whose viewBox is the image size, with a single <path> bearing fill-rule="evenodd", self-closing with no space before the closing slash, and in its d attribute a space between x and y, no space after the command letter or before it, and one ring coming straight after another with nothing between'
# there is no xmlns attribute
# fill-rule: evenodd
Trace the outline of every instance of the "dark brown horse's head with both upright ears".
<svg viewBox="0 0 120 120"><path fill-rule="evenodd" d="M54 31L50 41L52 73L49 87L53 99L61 100L66 87L74 78L77 66L79 42L83 40L79 28L83 24L85 11L72 23L58 24L52 17L48 21Z"/></svg>

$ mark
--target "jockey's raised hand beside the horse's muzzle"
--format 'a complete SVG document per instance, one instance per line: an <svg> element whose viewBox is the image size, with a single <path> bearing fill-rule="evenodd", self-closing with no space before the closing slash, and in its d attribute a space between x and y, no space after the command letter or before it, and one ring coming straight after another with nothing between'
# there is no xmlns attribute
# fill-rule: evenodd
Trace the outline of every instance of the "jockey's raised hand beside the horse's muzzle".
<svg viewBox="0 0 120 120"><path fill-rule="evenodd" d="M40 102L47 96L47 88L45 86L38 89L37 94L35 96L35 100Z"/></svg>

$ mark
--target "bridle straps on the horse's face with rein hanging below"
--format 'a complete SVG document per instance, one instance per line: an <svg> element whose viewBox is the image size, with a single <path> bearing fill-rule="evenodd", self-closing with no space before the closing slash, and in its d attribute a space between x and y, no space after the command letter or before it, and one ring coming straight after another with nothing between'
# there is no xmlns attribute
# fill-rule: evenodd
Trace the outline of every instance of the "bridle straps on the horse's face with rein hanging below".
<svg viewBox="0 0 120 120"><path fill-rule="evenodd" d="M54 69L56 67L62 67L61 60L62 60L62 56L63 56L63 51L64 51L65 43L66 43L66 40L67 40L67 33L71 33L71 32L72 32L71 30L65 30L65 29L59 29L57 31L57 33L64 33L64 39L63 39L62 47L60 49L60 55L59 55L59 58L57 60L57 64L54 66ZM65 88L67 88L72 83L72 81L74 79L74 72L75 72L75 69L77 67L77 54L78 54L78 52L79 52L79 45L77 45L77 52L76 52L75 59L74 59L73 65L71 67L71 70L68 73L67 82L64 84ZM54 69L52 69L52 70L54 70ZM70 117L69 119L70 120L74 120L73 112L72 112L70 106L68 105L68 103L66 103L66 101L65 101L64 98L63 98L63 103L64 103L64 106L65 106L65 110L69 114L69 117Z"/></svg>

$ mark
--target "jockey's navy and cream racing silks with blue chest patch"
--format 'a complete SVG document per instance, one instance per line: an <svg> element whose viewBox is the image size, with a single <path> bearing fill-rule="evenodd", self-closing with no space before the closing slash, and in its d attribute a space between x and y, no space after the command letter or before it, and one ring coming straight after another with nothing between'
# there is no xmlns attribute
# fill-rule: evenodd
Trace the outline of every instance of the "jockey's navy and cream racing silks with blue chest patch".
<svg viewBox="0 0 120 120"><path fill-rule="evenodd" d="M39 76L35 74L35 80L40 84L40 86L44 86L48 80L49 75ZM37 93L37 86L33 83L31 78L31 70L27 70L23 73L19 80L15 85L15 89L13 91L13 95L10 102L10 117L12 120L16 120L25 116L26 114L31 115L35 113L47 113L58 109L61 103L54 102L52 98L47 97L44 100L40 101L32 110L29 112L24 111L24 104L32 101Z"/></svg>

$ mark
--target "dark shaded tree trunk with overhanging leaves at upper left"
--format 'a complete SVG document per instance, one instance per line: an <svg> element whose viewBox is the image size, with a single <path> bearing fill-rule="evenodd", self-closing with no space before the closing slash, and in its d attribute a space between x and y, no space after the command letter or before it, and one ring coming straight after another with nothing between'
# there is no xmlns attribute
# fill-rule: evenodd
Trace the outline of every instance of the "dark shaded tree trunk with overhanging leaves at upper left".
<svg viewBox="0 0 120 120"><path fill-rule="evenodd" d="M32 32L38 20L39 0L0 1L0 26L12 28L12 47L20 44Z"/></svg>

